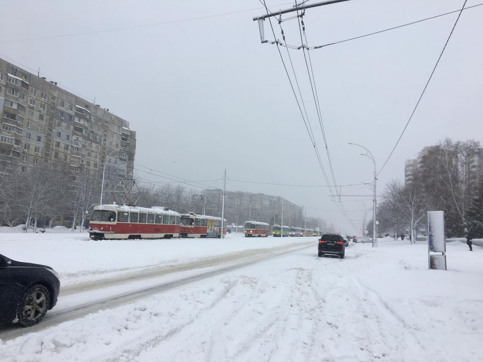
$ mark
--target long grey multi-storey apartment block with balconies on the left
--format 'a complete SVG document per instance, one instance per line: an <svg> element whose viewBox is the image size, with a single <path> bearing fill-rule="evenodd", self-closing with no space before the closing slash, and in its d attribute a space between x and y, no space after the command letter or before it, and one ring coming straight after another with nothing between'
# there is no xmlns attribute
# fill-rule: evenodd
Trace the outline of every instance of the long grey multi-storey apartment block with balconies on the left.
<svg viewBox="0 0 483 362"><path fill-rule="evenodd" d="M0 59L0 157L26 173L36 166L106 180L131 178L136 132L128 121Z"/></svg>

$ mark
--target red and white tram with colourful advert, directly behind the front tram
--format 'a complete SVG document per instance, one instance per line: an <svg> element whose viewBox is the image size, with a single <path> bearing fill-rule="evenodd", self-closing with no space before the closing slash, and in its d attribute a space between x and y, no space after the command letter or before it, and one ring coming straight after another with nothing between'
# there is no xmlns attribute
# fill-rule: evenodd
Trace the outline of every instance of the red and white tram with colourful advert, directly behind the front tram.
<svg viewBox="0 0 483 362"><path fill-rule="evenodd" d="M221 218L190 212L181 215L180 237L221 237ZM224 219L223 236L227 235Z"/></svg>

